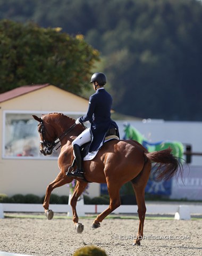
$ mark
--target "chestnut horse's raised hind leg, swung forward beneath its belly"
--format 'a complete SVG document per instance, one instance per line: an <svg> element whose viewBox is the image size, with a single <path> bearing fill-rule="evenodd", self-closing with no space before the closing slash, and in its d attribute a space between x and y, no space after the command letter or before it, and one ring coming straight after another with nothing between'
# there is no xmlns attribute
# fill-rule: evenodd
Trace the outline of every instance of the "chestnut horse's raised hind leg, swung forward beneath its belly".
<svg viewBox="0 0 202 256"><path fill-rule="evenodd" d="M108 186L108 184L107 184L107 186ZM108 186L108 193L110 195L110 205L104 212L97 215L97 218L94 220L94 222L92 222L92 229L99 228L100 222L102 222L103 219L105 217L107 217L108 214L113 212L117 207L119 207L121 205L121 199L120 199L120 194L119 194L120 187L121 186L112 188L112 187Z"/></svg>

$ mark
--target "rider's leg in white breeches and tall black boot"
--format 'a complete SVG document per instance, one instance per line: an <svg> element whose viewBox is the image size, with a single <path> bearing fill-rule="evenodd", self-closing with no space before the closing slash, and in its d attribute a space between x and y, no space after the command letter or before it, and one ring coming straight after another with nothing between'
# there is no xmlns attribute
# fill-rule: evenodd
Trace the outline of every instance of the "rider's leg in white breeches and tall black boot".
<svg viewBox="0 0 202 256"><path fill-rule="evenodd" d="M82 157L81 157L81 145L89 142L91 140L90 129L83 131L75 140L73 140L73 152L75 156L75 161L77 163L77 169L74 172L68 172L69 176L83 178L83 167L82 167Z"/></svg>

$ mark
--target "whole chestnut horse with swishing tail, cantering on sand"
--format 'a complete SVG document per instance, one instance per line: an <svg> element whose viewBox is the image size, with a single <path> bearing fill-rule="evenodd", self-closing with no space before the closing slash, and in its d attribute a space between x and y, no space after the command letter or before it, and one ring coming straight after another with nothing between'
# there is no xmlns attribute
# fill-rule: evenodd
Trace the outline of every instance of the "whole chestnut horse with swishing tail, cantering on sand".
<svg viewBox="0 0 202 256"><path fill-rule="evenodd" d="M53 211L48 209L51 192L53 189L73 180L73 177L65 175L74 159L72 141L85 128L80 124L76 125L74 119L60 113L42 115L41 118L33 116L33 118L39 122L40 153L44 155L52 154L58 141L61 142L61 152L58 156L60 173L48 185L43 204L46 217L52 219ZM110 195L110 205L104 212L97 215L92 223L92 229L100 227L100 222L121 205L120 188L124 183L131 181L136 194L139 215L139 230L133 245L140 245L146 213L145 187L149 179L152 162L157 163L159 179L170 179L178 170L182 173L181 164L172 155L171 149L148 153L142 145L134 140L108 141L100 148L94 159L83 161L86 180L76 178L77 185L70 202L77 232L81 233L83 231L83 225L79 223L76 204L88 184L87 181L107 183L108 194ZM162 167L164 168L162 169Z"/></svg>

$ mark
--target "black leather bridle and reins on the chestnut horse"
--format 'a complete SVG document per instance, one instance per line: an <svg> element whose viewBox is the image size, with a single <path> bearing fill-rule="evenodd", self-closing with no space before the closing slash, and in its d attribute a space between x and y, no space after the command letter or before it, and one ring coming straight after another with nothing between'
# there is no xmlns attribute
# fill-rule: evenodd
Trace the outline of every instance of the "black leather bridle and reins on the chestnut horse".
<svg viewBox="0 0 202 256"><path fill-rule="evenodd" d="M73 125L71 125L68 130L66 130L64 133L62 133L60 136L58 136L54 141L48 141L48 140L47 140L47 138L46 138L46 133L47 133L48 135L50 135L50 134L49 134L48 131L45 129L45 125L44 125L44 122L43 122L43 119L42 119L42 118L41 118L41 122L39 123L39 125L40 125L40 131L39 131L39 133L40 133L40 135L41 135L40 144L43 145L43 148L45 148L46 153L47 153L48 155L51 155L52 152L53 152L53 149L58 145L58 143L60 143L60 141L62 141L62 140L64 139L64 137L65 137L66 135L68 135L68 133L70 133L70 132L74 129L74 127L75 127L77 124L74 123ZM60 145L58 148L60 148L60 147L61 147L61 145ZM58 148L56 148L56 150L57 150ZM41 153L42 153L42 152L41 152Z"/></svg>

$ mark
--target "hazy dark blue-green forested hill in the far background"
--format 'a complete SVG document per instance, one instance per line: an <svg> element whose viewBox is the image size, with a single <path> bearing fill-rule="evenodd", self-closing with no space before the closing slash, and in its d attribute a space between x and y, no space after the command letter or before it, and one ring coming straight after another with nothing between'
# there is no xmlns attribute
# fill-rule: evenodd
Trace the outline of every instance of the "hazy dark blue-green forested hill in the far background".
<svg viewBox="0 0 202 256"><path fill-rule="evenodd" d="M200 1L0 0L3 18L83 34L100 52L116 111L202 121Z"/></svg>

